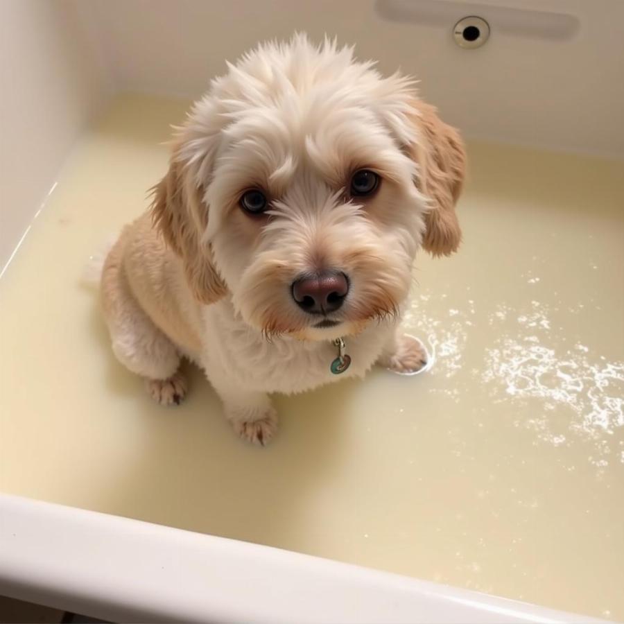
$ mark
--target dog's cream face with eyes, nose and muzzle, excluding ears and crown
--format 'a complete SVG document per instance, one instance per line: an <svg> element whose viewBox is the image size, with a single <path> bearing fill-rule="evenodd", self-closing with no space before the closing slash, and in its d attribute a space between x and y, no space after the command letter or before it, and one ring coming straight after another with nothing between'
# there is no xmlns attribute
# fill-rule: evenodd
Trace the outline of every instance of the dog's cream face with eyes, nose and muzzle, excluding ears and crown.
<svg viewBox="0 0 624 624"><path fill-rule="evenodd" d="M345 336L396 311L424 202L415 166L365 96L335 84L247 110L207 187L216 266L246 322Z"/></svg>

